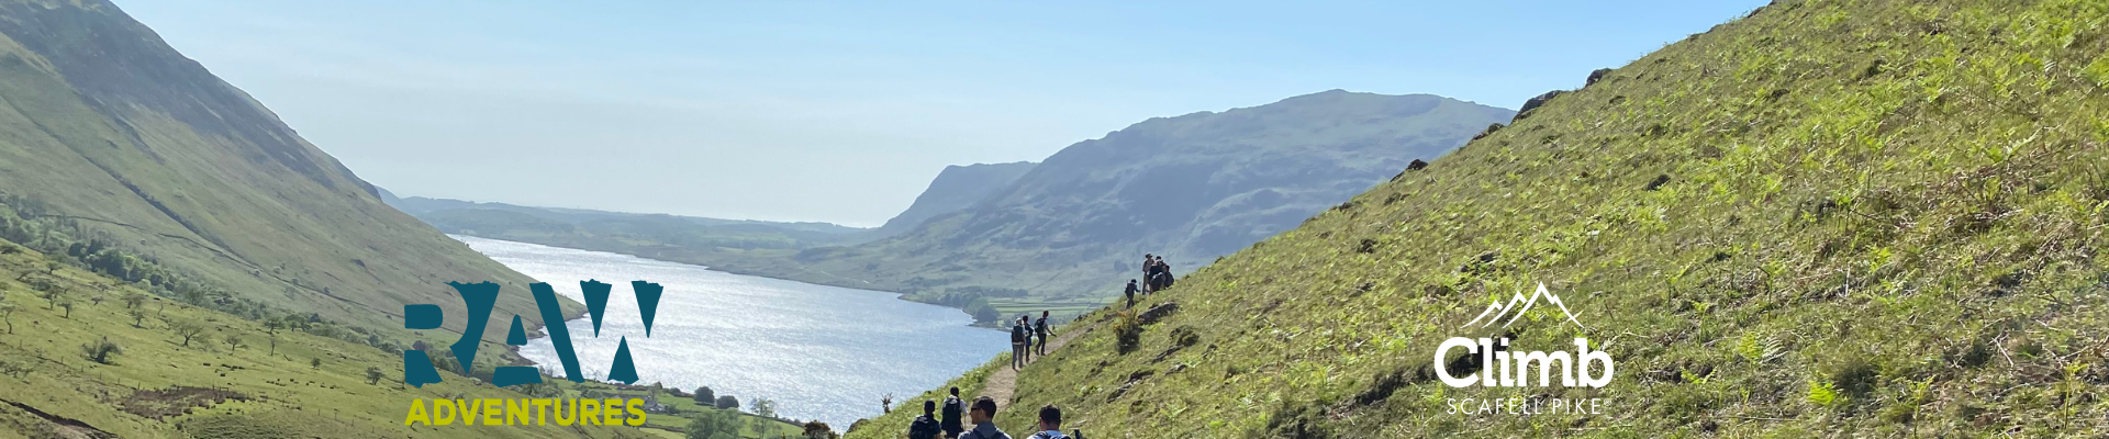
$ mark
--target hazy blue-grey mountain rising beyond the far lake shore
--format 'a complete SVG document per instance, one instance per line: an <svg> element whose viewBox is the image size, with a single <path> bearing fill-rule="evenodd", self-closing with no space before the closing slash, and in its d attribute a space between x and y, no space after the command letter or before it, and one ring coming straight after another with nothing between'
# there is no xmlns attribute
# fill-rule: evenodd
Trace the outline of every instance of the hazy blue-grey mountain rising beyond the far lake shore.
<svg viewBox="0 0 2109 439"><path fill-rule="evenodd" d="M1436 95L1327 91L1152 118L1063 148L1017 184L913 232L721 268L953 306L1097 304L1139 276L1143 253L1192 270L1510 116Z"/></svg>

